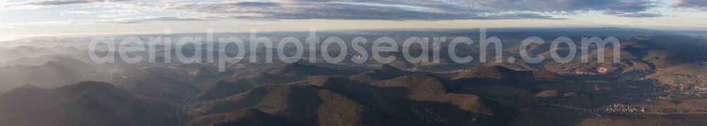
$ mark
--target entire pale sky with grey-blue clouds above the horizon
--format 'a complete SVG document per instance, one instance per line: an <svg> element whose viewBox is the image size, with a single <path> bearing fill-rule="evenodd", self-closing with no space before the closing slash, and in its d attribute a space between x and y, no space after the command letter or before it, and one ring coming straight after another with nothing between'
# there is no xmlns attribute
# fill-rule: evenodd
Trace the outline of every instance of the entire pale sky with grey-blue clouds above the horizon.
<svg viewBox="0 0 707 126"><path fill-rule="evenodd" d="M0 0L0 41L98 34L638 27L707 30L706 0Z"/></svg>

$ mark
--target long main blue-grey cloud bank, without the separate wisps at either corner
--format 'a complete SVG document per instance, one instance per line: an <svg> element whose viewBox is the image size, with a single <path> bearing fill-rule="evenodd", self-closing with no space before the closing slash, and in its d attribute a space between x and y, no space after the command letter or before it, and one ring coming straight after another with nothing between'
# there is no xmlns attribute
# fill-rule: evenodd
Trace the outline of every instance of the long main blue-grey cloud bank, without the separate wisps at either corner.
<svg viewBox="0 0 707 126"><path fill-rule="evenodd" d="M559 19L588 11L624 17L656 17L648 0L481 0L481 1L320 1L229 2L180 4L165 9L238 19L344 19L344 20L497 20Z"/></svg>

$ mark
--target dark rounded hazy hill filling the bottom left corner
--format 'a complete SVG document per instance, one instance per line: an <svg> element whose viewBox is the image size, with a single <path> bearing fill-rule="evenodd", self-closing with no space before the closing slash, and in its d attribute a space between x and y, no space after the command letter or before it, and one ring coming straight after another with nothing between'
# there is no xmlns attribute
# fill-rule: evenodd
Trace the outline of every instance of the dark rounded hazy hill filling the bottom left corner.
<svg viewBox="0 0 707 126"><path fill-rule="evenodd" d="M0 96L3 125L177 125L175 109L105 82L25 86Z"/></svg>

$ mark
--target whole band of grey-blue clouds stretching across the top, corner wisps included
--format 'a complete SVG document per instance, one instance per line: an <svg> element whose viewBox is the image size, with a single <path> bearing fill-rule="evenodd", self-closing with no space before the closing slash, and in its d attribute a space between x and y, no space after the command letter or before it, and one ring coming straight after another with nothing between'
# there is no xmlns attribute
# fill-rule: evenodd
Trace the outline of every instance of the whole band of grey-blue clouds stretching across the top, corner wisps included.
<svg viewBox="0 0 707 126"><path fill-rule="evenodd" d="M125 2L117 2L125 1ZM707 10L704 0L676 0L675 8ZM143 12L170 12L165 19L336 19L336 20L561 20L557 15L600 12L619 17L660 17L655 0L271 0L252 1L129 1L129 0L47 0L8 4L8 6L67 6L90 4L93 7ZM139 11L139 12L134 12ZM78 11L74 11L78 12ZM84 11L85 12L85 11ZM66 14L72 14L66 12ZM75 13L78 14L78 13ZM95 14L102 13L80 13ZM116 18L115 16L99 18ZM110 13L119 15L119 13ZM150 15L155 17L154 15ZM175 18L180 17L180 18ZM117 17L119 18L119 17ZM125 17L122 17L125 18ZM140 20L148 22L149 20Z"/></svg>

